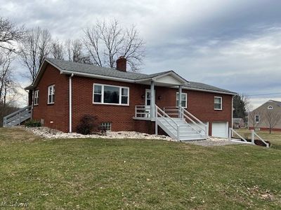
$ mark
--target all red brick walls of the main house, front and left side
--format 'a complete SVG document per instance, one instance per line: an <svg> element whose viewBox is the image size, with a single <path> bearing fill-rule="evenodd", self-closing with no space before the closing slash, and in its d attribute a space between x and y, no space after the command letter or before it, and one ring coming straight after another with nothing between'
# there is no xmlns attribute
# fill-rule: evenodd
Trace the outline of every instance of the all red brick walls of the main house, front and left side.
<svg viewBox="0 0 281 210"><path fill-rule="evenodd" d="M93 83L108 85L120 85L129 87L129 106L108 104L93 104ZM55 84L55 104L47 105L48 85ZM39 106L34 107L34 118L44 118L44 124L58 130L69 130L69 106L68 106L69 77L61 75L53 66L48 66L39 83ZM149 85L123 83L96 78L74 76L72 78L72 130L76 131L79 120L85 114L98 116L98 121L111 122L112 131L138 131L153 133L155 124L144 120L133 120L135 106L145 104L145 89ZM176 106L176 88L155 87L155 102L157 106ZM209 122L209 134L211 135L211 123L228 121L231 127L231 102L232 96L226 94L213 94L194 90L183 90L188 93L188 111L197 116L203 122ZM161 96L161 99L159 99ZM223 110L214 110L214 96L223 97ZM53 120L53 124L50 121Z"/></svg>

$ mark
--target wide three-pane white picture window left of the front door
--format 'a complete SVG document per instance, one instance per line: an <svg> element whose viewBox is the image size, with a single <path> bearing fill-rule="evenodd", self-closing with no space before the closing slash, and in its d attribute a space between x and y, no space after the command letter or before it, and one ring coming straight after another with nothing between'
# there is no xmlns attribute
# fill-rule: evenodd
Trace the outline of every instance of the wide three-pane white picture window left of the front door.
<svg viewBox="0 0 281 210"><path fill-rule="evenodd" d="M129 87L93 84L93 104L129 105Z"/></svg>

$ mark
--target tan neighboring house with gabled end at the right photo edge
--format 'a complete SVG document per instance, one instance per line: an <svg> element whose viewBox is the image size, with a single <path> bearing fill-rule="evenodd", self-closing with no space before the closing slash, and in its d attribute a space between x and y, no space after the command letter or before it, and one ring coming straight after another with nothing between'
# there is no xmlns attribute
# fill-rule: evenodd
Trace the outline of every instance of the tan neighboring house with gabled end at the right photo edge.
<svg viewBox="0 0 281 210"><path fill-rule="evenodd" d="M249 113L249 129L281 131L281 102L269 100Z"/></svg>

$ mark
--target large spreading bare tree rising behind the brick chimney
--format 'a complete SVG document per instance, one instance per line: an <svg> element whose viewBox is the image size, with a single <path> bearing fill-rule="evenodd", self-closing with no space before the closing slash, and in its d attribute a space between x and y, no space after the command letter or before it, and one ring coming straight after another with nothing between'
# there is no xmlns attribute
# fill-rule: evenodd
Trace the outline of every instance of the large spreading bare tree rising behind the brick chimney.
<svg viewBox="0 0 281 210"><path fill-rule="evenodd" d="M115 68L116 60L124 56L131 71L137 71L144 57L144 43L135 27L123 29L117 20L99 22L84 30L84 46L93 64Z"/></svg>

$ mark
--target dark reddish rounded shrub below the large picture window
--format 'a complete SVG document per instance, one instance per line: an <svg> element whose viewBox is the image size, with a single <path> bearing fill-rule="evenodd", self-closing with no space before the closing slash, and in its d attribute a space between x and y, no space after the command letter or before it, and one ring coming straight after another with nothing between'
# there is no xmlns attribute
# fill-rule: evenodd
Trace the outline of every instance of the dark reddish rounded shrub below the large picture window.
<svg viewBox="0 0 281 210"><path fill-rule="evenodd" d="M87 135L96 131L98 129L97 119L97 116L84 115L77 125L77 133Z"/></svg>

